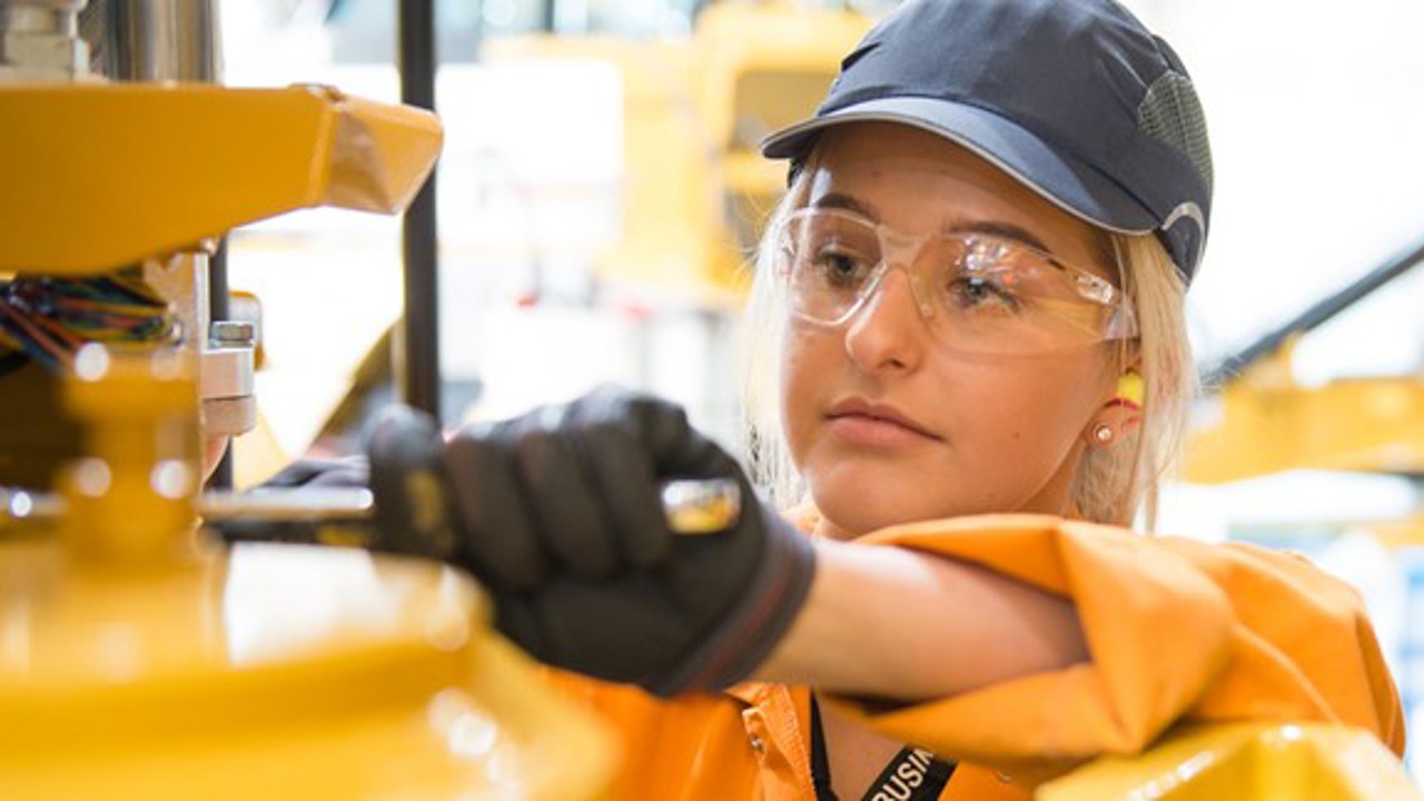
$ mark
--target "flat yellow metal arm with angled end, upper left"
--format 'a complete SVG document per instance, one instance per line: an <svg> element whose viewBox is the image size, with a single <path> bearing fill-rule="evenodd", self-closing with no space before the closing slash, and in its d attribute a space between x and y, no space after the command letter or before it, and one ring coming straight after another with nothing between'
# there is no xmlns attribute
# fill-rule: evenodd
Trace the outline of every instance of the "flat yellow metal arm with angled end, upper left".
<svg viewBox="0 0 1424 801"><path fill-rule="evenodd" d="M330 87L0 84L0 271L90 274L286 211L403 210L427 111Z"/></svg>

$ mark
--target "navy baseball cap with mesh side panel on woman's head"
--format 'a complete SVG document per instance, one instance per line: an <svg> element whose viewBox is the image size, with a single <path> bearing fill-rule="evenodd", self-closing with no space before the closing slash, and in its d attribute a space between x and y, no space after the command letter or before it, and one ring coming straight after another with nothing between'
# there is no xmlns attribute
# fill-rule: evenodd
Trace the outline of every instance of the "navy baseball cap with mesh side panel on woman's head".
<svg viewBox="0 0 1424 801"><path fill-rule="evenodd" d="M909 0L840 64L810 120L762 143L793 174L819 134L891 121L940 134L1069 214L1156 232L1190 282L1212 153L1172 48L1112 0Z"/></svg>

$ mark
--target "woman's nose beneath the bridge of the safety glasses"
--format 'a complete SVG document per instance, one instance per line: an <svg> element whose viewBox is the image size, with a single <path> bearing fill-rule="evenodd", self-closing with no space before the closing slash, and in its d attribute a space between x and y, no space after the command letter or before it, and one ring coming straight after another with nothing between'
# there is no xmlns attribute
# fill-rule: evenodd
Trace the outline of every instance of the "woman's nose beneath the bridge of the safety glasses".
<svg viewBox="0 0 1424 801"><path fill-rule="evenodd" d="M846 353L864 372L909 372L924 356L928 329L909 269L886 271L846 326Z"/></svg>

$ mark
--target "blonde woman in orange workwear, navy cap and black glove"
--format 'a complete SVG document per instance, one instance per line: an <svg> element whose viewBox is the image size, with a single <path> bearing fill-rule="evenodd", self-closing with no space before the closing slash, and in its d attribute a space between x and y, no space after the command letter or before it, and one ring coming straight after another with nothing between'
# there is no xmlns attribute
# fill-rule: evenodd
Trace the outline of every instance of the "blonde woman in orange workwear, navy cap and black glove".
<svg viewBox="0 0 1424 801"><path fill-rule="evenodd" d="M454 560L584 674L560 681L625 738L614 797L1018 798L1180 720L1403 748L1356 593L1116 527L1175 443L1210 210L1165 43L1109 0L911 0L766 151L793 180L753 453L802 506L750 503L681 410L617 391L444 452ZM729 530L669 533L658 487L688 476L739 482Z"/></svg>

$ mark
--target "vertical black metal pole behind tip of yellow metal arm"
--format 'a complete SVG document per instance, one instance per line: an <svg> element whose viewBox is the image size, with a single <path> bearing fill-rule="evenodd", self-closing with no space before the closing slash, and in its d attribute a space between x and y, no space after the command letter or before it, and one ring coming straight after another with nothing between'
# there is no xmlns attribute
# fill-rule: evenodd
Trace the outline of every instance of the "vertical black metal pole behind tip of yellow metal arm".
<svg viewBox="0 0 1424 801"><path fill-rule="evenodd" d="M436 107L433 0L400 0L400 101ZM402 319L396 381L400 398L440 419L439 254L436 252L436 174L430 172L404 217L406 312Z"/></svg>

